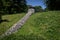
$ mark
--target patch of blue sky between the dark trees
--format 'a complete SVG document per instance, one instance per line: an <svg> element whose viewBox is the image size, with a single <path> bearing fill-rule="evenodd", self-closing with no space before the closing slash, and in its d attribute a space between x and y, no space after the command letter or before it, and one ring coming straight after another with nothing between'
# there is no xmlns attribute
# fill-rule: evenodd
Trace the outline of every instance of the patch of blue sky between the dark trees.
<svg viewBox="0 0 60 40"><path fill-rule="evenodd" d="M43 0L26 0L27 5L32 5L32 6L42 6L42 8L46 8Z"/></svg>

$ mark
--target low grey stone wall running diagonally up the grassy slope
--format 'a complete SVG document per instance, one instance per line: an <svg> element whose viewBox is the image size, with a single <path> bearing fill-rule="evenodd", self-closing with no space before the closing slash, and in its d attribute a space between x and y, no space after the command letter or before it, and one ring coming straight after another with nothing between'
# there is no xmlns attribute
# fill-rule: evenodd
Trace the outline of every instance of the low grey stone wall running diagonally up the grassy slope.
<svg viewBox="0 0 60 40"><path fill-rule="evenodd" d="M15 23L10 29L8 29L4 34L2 34L0 36L0 38L4 37L4 36L8 36L11 35L12 33L15 33L18 31L18 29L20 29L23 24L27 21L27 19L30 17L30 15L32 15L32 13L34 10L30 10L22 19L20 19L17 23Z"/></svg>

